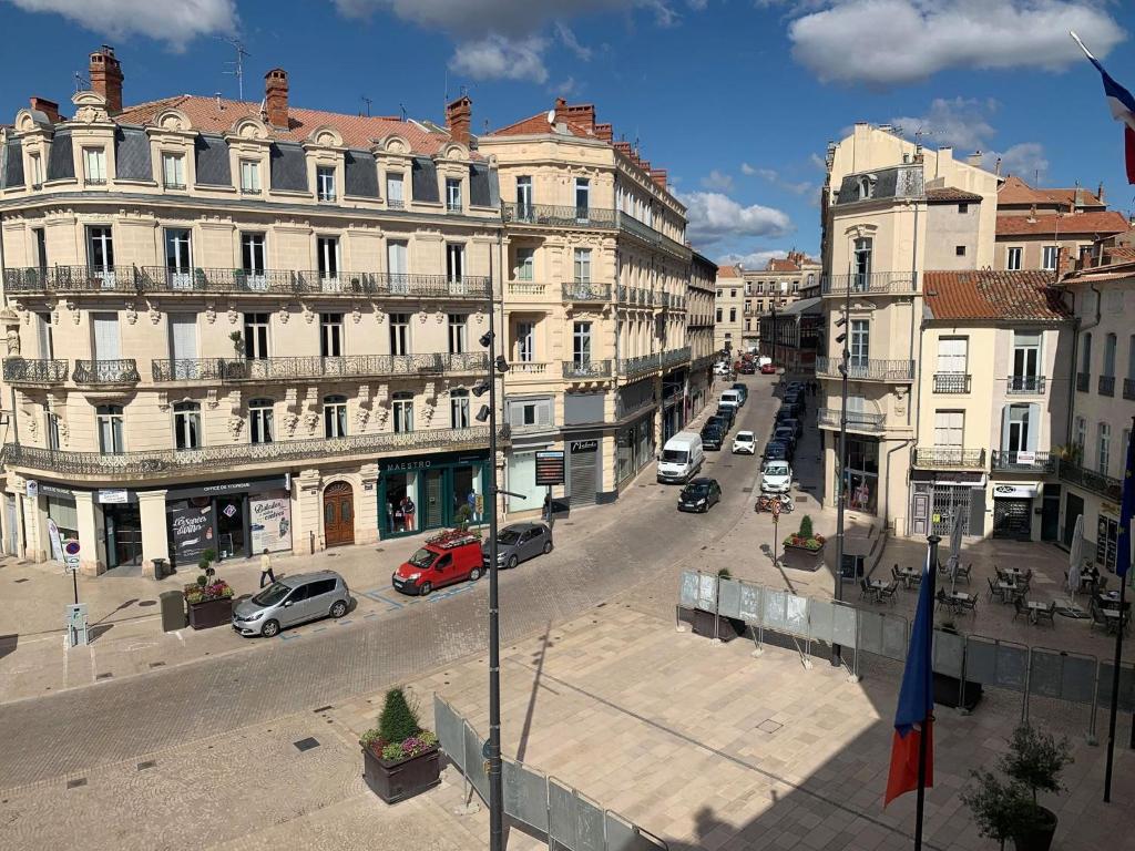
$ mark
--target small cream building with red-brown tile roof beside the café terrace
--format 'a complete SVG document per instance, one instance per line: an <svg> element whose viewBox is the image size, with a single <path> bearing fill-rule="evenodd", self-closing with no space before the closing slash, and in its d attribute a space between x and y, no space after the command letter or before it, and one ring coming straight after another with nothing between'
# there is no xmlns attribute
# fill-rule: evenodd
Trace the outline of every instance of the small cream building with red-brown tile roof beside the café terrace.
<svg viewBox="0 0 1135 851"><path fill-rule="evenodd" d="M910 533L1058 539L1071 313L1042 271L927 271Z"/></svg>

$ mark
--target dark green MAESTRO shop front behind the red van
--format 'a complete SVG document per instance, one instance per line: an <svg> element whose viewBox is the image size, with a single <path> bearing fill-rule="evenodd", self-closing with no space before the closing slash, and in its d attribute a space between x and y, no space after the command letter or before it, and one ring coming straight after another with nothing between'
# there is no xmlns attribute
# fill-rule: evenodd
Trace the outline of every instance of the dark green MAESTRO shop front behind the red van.
<svg viewBox="0 0 1135 851"><path fill-rule="evenodd" d="M487 449L379 458L378 469L378 528L384 538L485 519Z"/></svg>

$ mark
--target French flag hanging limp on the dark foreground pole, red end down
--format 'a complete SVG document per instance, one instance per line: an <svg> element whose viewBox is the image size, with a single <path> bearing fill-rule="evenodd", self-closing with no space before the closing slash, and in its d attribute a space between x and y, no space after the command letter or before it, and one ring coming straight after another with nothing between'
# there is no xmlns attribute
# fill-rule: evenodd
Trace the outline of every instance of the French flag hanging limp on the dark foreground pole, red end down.
<svg viewBox="0 0 1135 851"><path fill-rule="evenodd" d="M899 689L899 707L894 713L894 735L891 741L891 770L886 776L885 808L899 795L922 785L934 785L934 667L931 647L934 635L934 580L935 568L926 553L922 587L907 666ZM924 747L925 743L925 747ZM919 777L919 760L925 760ZM920 783L919 783L920 782ZM922 814L918 814L919 820Z"/></svg>

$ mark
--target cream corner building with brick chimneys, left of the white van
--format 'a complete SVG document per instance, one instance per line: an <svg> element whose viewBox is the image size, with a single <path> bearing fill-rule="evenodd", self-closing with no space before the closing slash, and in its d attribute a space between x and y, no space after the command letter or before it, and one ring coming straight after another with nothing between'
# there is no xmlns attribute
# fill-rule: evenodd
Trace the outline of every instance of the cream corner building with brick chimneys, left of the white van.
<svg viewBox="0 0 1135 851"><path fill-rule="evenodd" d="M591 104L478 138L501 175L510 511L535 511L536 455L563 449L572 505L615 499L689 416L691 252L666 172Z"/></svg>

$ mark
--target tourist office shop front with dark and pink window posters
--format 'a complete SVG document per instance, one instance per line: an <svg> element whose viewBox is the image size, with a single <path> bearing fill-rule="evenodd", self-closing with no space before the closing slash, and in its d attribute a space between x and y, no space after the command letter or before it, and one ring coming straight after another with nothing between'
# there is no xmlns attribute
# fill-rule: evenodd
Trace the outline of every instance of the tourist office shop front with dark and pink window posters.
<svg viewBox="0 0 1135 851"><path fill-rule="evenodd" d="M292 549L291 488L286 473L170 488L166 515L174 564L192 567L209 549L218 561Z"/></svg>

